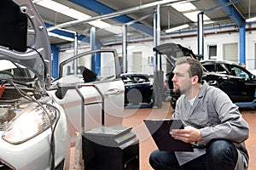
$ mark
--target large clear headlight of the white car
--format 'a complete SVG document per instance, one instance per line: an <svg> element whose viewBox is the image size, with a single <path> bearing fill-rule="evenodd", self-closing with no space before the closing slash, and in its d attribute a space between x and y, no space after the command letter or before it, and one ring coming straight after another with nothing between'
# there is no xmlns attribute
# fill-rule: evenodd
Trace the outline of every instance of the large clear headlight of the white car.
<svg viewBox="0 0 256 170"><path fill-rule="evenodd" d="M10 144L21 144L48 129L50 123L56 120L56 110L50 105L43 106L44 109L34 103L20 111L20 114L9 122L2 138Z"/></svg>

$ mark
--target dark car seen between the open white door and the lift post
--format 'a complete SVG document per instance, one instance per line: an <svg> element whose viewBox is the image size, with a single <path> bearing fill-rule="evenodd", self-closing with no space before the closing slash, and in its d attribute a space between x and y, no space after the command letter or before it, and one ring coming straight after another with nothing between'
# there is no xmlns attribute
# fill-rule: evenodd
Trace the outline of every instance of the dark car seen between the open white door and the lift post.
<svg viewBox="0 0 256 170"><path fill-rule="evenodd" d="M124 73L121 78L125 84L125 105L153 103L153 84L147 74Z"/></svg>

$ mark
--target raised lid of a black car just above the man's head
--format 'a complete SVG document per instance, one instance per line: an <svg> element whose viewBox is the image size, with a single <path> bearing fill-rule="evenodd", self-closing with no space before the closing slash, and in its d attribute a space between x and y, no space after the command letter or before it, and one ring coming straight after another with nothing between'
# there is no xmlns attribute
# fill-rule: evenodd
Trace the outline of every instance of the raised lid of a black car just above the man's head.
<svg viewBox="0 0 256 170"><path fill-rule="evenodd" d="M160 44L159 46L154 47L153 50L158 54L165 54L166 57L172 61L172 63L175 63L178 59L184 56L199 59L191 49L172 42Z"/></svg>

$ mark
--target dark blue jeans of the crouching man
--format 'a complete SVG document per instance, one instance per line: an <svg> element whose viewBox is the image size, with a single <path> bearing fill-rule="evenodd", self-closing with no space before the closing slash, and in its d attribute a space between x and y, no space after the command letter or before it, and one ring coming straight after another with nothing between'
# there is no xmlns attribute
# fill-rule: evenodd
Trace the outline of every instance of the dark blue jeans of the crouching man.
<svg viewBox="0 0 256 170"><path fill-rule="evenodd" d="M156 170L234 170L238 153L236 146L227 140L212 140L207 144L207 153L178 165L172 151L154 150L149 156L151 167Z"/></svg>

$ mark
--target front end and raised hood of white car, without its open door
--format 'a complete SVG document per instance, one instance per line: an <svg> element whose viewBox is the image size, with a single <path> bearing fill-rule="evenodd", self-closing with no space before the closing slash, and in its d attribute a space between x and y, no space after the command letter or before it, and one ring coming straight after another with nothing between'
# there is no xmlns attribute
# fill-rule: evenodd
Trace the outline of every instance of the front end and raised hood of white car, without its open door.
<svg viewBox="0 0 256 170"><path fill-rule="evenodd" d="M31 1L2 1L0 8L0 169L69 169L67 116L47 92L44 22Z"/></svg>

